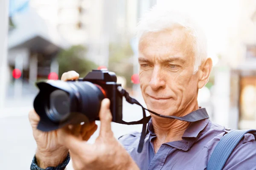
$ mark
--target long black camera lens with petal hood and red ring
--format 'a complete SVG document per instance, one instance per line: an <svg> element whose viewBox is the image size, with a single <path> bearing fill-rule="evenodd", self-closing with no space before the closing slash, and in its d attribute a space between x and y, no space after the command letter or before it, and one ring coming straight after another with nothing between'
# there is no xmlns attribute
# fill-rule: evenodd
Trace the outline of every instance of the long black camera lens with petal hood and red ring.
<svg viewBox="0 0 256 170"><path fill-rule="evenodd" d="M42 118L40 130L98 119L104 89L92 82L39 82L34 108Z"/></svg>

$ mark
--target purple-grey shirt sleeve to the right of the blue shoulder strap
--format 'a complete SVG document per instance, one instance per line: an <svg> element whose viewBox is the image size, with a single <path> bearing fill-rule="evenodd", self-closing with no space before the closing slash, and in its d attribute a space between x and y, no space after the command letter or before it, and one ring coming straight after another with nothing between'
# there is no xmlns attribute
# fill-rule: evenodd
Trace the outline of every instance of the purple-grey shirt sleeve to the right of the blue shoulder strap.
<svg viewBox="0 0 256 170"><path fill-rule="evenodd" d="M245 134L227 160L223 170L256 170L256 141L253 134Z"/></svg>

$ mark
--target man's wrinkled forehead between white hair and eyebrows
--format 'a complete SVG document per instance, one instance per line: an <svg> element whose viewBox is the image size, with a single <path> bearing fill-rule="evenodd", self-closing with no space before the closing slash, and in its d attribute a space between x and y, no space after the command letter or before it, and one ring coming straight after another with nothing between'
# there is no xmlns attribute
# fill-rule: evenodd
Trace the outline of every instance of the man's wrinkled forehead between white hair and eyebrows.
<svg viewBox="0 0 256 170"><path fill-rule="evenodd" d="M161 60L166 57L182 57L192 62L195 57L194 44L190 31L181 26L145 32L139 40L139 57Z"/></svg>

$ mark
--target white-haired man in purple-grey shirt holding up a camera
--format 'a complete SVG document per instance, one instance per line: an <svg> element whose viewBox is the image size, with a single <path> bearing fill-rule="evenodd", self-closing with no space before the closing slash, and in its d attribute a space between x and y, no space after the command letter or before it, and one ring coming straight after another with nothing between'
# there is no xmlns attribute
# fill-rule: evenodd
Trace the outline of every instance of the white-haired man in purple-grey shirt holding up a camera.
<svg viewBox="0 0 256 170"><path fill-rule="evenodd" d="M147 108L165 116L207 115L199 108L197 96L209 79L212 60L199 27L186 15L156 6L140 21L138 38L140 87ZM61 79L78 77L70 71ZM97 129L95 122L46 133L36 129L39 117L31 111L38 146L31 169L62 170L71 156L75 170L204 170L216 144L229 132L208 118L189 122L151 114L144 147L138 153L140 133L122 136L119 141L114 138L109 105L108 99L102 101L100 134L94 144L86 141ZM255 147L254 136L246 134L224 170L255 170Z"/></svg>

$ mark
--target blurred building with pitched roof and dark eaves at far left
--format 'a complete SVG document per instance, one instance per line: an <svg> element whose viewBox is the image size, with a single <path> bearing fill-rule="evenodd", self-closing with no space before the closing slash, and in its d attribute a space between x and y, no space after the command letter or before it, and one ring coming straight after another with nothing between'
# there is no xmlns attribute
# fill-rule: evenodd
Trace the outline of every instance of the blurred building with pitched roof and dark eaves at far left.
<svg viewBox="0 0 256 170"><path fill-rule="evenodd" d="M10 73L14 68L22 72L22 81L34 83L47 78L51 65L61 48L68 42L33 9L12 17L15 28L9 31L8 62Z"/></svg>

